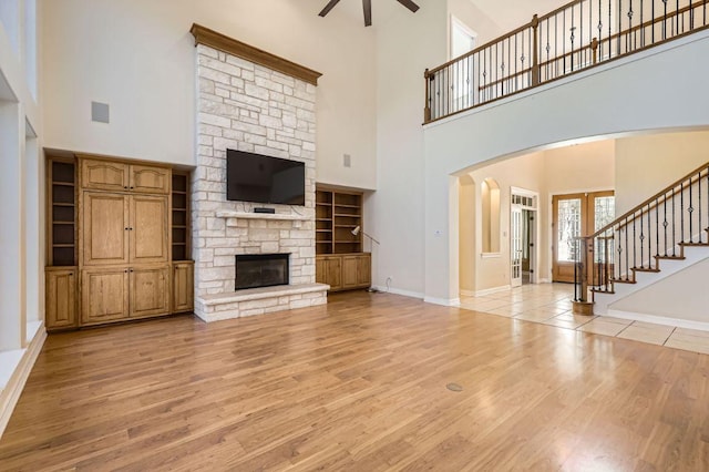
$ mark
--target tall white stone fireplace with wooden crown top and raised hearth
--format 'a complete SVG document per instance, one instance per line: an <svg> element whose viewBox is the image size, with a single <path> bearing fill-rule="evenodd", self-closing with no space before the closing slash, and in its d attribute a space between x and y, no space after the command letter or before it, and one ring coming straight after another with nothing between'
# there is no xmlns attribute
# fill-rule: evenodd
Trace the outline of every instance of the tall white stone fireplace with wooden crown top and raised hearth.
<svg viewBox="0 0 709 472"><path fill-rule="evenodd" d="M199 25L193 25L192 33L198 85L197 168L192 181L195 314L213 321L326 304L329 287L315 283L319 74L280 58L273 62L275 69L263 65L268 53L256 50L253 55L255 48ZM315 80L299 78L297 68L316 74ZM284 73L291 69L295 74ZM264 205L227 201L227 148L304 162L305 206L267 205L276 213L256 214L254 207ZM271 255L279 256L279 269L254 268ZM237 270L235 259L251 274ZM256 288L255 276L270 278L279 270L280 281L288 285L268 281Z"/></svg>

